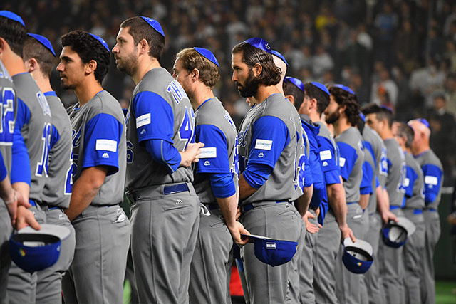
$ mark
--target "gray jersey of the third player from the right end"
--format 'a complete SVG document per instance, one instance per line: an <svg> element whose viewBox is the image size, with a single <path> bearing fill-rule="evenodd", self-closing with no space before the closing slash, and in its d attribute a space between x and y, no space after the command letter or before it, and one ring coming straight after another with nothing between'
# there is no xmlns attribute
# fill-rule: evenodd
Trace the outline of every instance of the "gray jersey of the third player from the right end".
<svg viewBox="0 0 456 304"><path fill-rule="evenodd" d="M390 197L390 206L402 206L404 199L405 155L394 138L385 140L388 162L388 179L386 191Z"/></svg>

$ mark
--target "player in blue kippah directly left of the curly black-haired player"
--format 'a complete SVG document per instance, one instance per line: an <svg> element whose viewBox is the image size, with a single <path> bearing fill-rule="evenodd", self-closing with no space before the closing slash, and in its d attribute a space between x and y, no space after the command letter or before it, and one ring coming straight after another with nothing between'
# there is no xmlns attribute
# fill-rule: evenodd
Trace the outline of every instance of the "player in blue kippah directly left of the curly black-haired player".
<svg viewBox="0 0 456 304"><path fill-rule="evenodd" d="M28 33L24 43L24 65L33 75L51 109L52 137L49 143L48 179L41 193L41 209L46 214L46 224L65 226L71 235L61 244L57 263L38 271L36 302L61 303L63 274L73 261L75 234L73 226L63 212L70 205L72 182L71 122L61 100L51 88L49 77L56 58L52 44L46 37Z"/></svg>

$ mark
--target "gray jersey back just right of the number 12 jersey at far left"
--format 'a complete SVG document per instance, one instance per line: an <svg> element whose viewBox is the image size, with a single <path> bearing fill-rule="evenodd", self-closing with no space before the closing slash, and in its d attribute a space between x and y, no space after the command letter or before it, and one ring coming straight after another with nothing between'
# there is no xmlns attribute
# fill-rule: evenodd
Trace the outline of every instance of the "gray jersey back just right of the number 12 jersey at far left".
<svg viewBox="0 0 456 304"><path fill-rule="evenodd" d="M28 197L39 202L48 176L51 110L48 100L29 73L14 75L13 82L18 98L25 103L30 112L30 120L22 126L21 134L30 159L31 184Z"/></svg>

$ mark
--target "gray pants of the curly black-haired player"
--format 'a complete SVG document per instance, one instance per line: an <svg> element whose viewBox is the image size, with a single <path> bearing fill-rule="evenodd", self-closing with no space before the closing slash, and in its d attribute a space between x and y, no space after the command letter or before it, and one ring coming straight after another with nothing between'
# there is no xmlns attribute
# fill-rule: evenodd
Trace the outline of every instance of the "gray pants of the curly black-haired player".
<svg viewBox="0 0 456 304"><path fill-rule="evenodd" d="M62 279L65 303L123 303L130 221L122 208L89 205L72 224L76 250Z"/></svg>

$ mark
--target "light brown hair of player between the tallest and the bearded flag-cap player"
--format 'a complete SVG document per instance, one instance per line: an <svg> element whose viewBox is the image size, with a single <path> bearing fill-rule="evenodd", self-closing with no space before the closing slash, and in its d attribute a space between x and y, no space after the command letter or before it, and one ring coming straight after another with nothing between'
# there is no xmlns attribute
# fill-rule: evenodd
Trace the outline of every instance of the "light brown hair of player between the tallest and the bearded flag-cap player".
<svg viewBox="0 0 456 304"><path fill-rule="evenodd" d="M199 70L199 79L209 88L214 88L220 79L219 67L195 51L195 48L184 48L176 54L182 67L191 72L194 68Z"/></svg>

